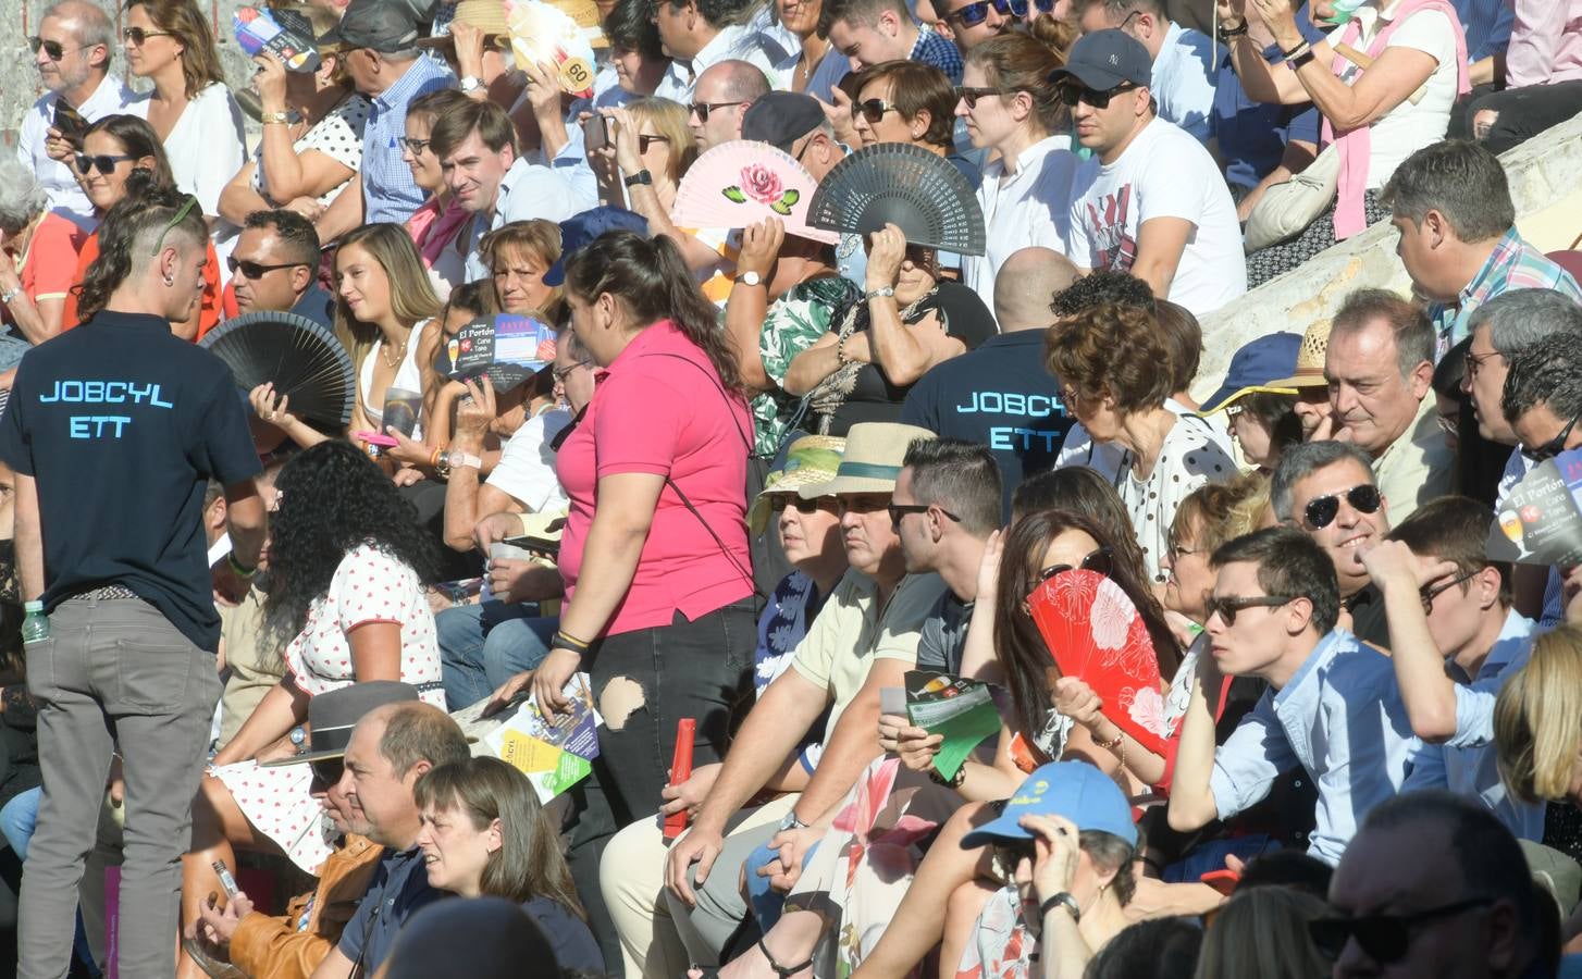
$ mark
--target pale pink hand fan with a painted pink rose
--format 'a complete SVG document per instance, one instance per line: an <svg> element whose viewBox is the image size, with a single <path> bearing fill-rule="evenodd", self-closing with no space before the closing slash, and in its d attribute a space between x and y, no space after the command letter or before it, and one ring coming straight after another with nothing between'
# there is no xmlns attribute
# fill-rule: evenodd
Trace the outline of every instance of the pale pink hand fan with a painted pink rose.
<svg viewBox="0 0 1582 979"><path fill-rule="evenodd" d="M791 153L767 142L732 139L698 157L676 188L671 220L682 228L745 228L766 218L786 234L834 245L838 234L807 223L818 180Z"/></svg>

